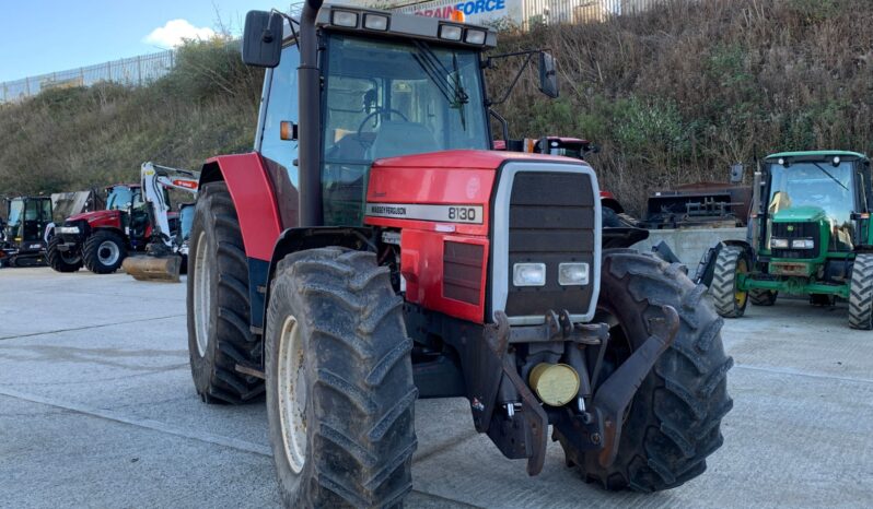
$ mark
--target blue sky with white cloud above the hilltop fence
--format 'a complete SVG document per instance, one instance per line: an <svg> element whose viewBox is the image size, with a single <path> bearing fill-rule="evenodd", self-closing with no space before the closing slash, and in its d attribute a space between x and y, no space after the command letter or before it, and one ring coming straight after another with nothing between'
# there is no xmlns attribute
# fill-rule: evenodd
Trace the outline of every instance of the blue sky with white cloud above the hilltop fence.
<svg viewBox="0 0 873 509"><path fill-rule="evenodd" d="M0 0L0 82L170 49L280 0Z"/></svg>

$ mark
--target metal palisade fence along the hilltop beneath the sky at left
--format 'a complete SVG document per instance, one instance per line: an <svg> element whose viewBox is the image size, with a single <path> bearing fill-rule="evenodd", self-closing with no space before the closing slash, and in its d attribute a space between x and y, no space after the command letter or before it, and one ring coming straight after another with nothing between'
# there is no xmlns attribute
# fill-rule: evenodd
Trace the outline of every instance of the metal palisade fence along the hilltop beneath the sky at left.
<svg viewBox="0 0 873 509"><path fill-rule="evenodd" d="M90 86L102 81L139 86L163 76L173 69L174 64L175 51L166 50L8 81L0 83L0 103L20 100L49 88Z"/></svg>

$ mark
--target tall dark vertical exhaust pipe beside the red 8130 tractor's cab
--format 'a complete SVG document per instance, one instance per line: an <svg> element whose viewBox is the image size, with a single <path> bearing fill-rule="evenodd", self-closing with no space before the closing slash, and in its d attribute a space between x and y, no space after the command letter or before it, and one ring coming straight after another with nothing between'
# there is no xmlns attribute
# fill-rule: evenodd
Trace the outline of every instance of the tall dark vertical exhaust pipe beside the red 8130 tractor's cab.
<svg viewBox="0 0 873 509"><path fill-rule="evenodd" d="M315 16L324 0L306 0L300 16L300 215L298 226L322 226L322 86Z"/></svg>

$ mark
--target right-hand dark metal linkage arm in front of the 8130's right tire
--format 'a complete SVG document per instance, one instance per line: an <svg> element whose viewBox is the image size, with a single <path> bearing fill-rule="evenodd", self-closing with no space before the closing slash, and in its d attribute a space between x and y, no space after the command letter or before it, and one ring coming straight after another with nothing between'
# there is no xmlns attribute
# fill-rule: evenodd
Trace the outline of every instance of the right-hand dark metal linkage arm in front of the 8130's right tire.
<svg viewBox="0 0 873 509"><path fill-rule="evenodd" d="M650 336L609 376L594 393L593 406L603 415L603 449L597 457L601 466L610 466L618 454L625 410L643 379L652 370L679 331L679 315L671 306L661 307L664 317L650 320Z"/></svg>

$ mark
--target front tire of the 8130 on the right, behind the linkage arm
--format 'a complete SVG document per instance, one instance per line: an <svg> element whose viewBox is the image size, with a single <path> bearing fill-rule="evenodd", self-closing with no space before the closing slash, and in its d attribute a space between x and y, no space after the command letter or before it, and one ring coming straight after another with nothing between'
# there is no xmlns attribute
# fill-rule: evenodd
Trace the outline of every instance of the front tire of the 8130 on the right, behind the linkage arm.
<svg viewBox="0 0 873 509"><path fill-rule="evenodd" d="M733 359L724 354L723 320L705 291L679 263L633 250L605 252L596 319L609 323L610 339L595 391L645 342L662 306L676 309L680 327L633 396L612 466L600 465L600 451L577 450L556 430L568 464L587 482L609 490L673 488L703 473L707 457L721 447L721 421L733 407L726 382Z"/></svg>

